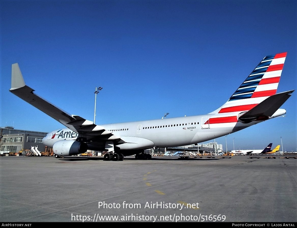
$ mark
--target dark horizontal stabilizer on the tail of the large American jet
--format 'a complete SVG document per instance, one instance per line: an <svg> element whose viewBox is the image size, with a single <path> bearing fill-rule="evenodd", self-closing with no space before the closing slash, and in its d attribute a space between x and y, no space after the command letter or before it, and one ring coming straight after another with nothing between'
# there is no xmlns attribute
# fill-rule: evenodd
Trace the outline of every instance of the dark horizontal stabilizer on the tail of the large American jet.
<svg viewBox="0 0 297 228"><path fill-rule="evenodd" d="M282 106L283 103L285 103L285 101L287 101L287 99L291 96L290 93L293 92L294 90L290 90L287 92L277 93L266 98L257 106L238 117L238 120L243 123L250 123L252 121L268 119L279 109L280 106Z"/></svg>

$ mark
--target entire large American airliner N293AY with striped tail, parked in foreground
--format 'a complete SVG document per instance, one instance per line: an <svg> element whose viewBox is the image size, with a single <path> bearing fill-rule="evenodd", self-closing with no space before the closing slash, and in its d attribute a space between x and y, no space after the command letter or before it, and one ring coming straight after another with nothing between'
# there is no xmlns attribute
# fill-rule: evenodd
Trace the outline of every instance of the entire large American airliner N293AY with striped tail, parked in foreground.
<svg viewBox="0 0 297 228"><path fill-rule="evenodd" d="M104 160L150 159L144 149L197 144L284 115L279 109L294 90L276 93L287 52L266 56L220 108L189 117L95 125L45 101L26 86L18 63L12 64L10 91L67 128L48 133L43 143L59 156L108 151Z"/></svg>

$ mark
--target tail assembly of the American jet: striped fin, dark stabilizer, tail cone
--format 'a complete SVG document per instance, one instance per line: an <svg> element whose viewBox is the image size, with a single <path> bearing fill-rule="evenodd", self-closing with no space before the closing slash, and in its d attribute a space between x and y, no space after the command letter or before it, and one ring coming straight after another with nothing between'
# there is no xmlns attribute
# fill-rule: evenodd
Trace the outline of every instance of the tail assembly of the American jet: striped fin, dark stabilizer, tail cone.
<svg viewBox="0 0 297 228"><path fill-rule="evenodd" d="M284 109L278 109L294 91L276 94L286 55L283 52L263 58L229 100L209 114L234 115L242 123L284 114Z"/></svg>

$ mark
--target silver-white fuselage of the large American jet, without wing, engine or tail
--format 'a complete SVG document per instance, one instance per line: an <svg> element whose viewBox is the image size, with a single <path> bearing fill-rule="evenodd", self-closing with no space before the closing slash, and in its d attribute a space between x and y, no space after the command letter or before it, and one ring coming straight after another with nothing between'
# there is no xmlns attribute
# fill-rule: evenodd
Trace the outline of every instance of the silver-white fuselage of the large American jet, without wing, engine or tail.
<svg viewBox="0 0 297 228"><path fill-rule="evenodd" d="M156 119L100 125L113 135L121 136L126 143L118 145L121 150L149 149L153 147L185 146L218 138L244 129L261 121L249 124L241 122L204 124L206 119L220 114ZM75 140L78 134L68 128L48 133L43 143L49 147L60 140Z"/></svg>

